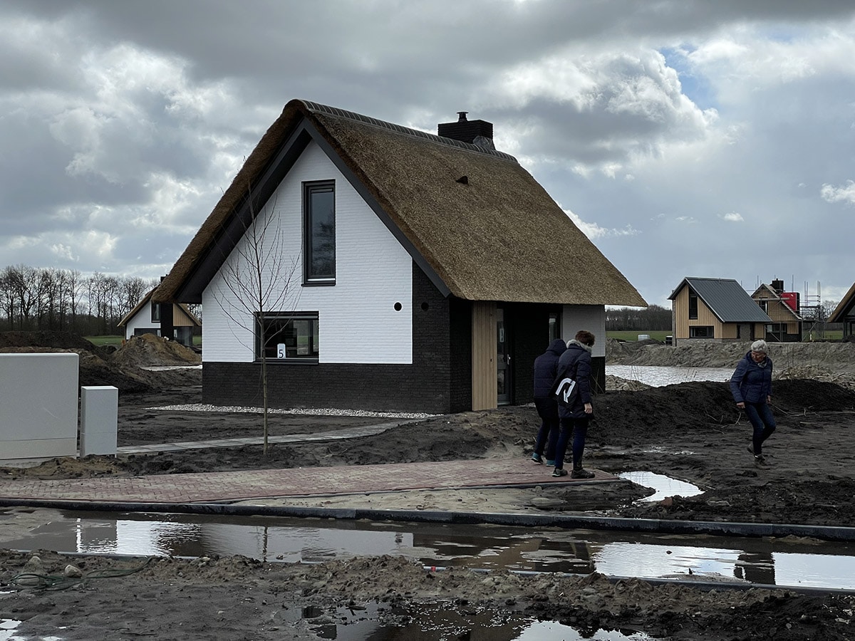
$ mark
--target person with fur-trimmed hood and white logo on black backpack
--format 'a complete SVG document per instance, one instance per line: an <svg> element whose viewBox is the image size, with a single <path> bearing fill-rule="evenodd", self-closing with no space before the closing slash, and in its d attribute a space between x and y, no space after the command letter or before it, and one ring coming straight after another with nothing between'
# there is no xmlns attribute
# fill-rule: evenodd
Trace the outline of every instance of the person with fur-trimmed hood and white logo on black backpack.
<svg viewBox="0 0 855 641"><path fill-rule="evenodd" d="M567 350L558 359L557 379L569 377L576 381L578 394L570 407L558 406L558 420L561 432L555 446L555 469L552 476L567 476L564 469L564 456L570 436L573 437L573 471L571 479L593 479L593 472L582 468L582 454L585 451L585 437L588 423L593 416L591 404L591 348L595 337L587 330L576 332L576 337L569 341Z"/></svg>

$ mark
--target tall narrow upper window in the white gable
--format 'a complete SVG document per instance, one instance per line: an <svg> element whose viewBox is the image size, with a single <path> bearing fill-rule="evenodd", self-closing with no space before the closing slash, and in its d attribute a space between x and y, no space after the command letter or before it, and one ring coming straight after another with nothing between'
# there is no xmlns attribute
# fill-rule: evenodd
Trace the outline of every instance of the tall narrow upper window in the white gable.
<svg viewBox="0 0 855 641"><path fill-rule="evenodd" d="M335 183L303 184L303 280L335 285Z"/></svg>

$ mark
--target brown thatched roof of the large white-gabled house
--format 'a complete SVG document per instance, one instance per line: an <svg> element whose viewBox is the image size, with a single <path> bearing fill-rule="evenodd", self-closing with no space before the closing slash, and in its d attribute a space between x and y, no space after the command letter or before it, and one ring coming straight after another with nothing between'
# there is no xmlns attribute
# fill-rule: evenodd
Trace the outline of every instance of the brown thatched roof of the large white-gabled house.
<svg viewBox="0 0 855 641"><path fill-rule="evenodd" d="M263 203L310 140L446 295L646 306L512 156L301 100L265 133L156 300L201 300L243 228L248 185Z"/></svg>

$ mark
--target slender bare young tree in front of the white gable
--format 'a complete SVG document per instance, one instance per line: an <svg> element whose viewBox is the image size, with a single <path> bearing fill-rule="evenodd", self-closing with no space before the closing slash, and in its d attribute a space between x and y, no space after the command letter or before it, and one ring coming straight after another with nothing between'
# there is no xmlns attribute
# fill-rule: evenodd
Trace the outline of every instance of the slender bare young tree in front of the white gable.
<svg viewBox="0 0 855 641"><path fill-rule="evenodd" d="M221 268L223 289L213 291L215 302L223 314L254 337L245 344L261 361L263 452L268 453L268 348L271 339L268 314L276 313L283 320L296 309L299 288L294 286L298 257L288 256L283 237L280 212L276 199L257 211L251 189L247 189L246 219L241 221L243 235ZM286 316L285 316L286 317Z"/></svg>

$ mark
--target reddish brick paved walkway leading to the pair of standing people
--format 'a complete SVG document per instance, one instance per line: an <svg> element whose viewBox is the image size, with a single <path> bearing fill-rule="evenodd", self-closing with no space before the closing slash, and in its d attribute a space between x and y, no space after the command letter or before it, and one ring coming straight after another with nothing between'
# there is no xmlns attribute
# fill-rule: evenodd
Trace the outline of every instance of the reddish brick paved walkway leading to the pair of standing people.
<svg viewBox="0 0 855 641"><path fill-rule="evenodd" d="M599 470L590 480L552 478L552 468L527 458L391 463L157 474L119 478L0 480L0 499L115 503L217 503L253 498L310 497L383 491L614 481Z"/></svg>

